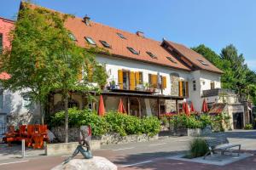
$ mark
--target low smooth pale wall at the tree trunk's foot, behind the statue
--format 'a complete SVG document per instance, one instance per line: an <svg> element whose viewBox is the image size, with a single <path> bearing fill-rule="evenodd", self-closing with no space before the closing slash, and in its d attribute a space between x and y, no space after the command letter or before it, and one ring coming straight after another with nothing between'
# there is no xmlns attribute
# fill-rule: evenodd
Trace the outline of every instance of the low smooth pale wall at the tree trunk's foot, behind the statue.
<svg viewBox="0 0 256 170"><path fill-rule="evenodd" d="M73 151L77 148L78 145L79 145L78 142L46 144L45 155L46 156L58 156L58 155L73 154ZM90 141L90 150L99 150L99 149L101 149L101 141L100 140L91 140Z"/></svg>

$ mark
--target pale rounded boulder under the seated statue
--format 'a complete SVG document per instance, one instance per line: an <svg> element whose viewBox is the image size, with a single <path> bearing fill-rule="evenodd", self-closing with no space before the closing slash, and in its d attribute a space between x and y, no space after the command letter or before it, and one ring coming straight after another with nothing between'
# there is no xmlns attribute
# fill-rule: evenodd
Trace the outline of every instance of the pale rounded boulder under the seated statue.
<svg viewBox="0 0 256 170"><path fill-rule="evenodd" d="M73 159L51 170L117 170L117 166L104 157L94 156L92 159Z"/></svg>

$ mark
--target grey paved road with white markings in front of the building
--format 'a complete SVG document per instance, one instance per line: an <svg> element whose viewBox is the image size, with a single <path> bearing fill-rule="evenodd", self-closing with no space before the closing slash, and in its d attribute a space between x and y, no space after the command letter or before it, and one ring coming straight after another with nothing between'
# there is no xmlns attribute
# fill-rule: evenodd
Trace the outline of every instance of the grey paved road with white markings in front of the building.
<svg viewBox="0 0 256 170"><path fill-rule="evenodd" d="M228 133L214 133L213 136L227 136L232 143L242 144L244 150L256 150L256 131L236 131ZM173 161L168 157L177 155L188 149L192 138L178 137L160 139L151 142L137 144L113 144L103 146L101 150L95 150L94 156L104 156L118 165L119 169L222 169L217 166L204 164ZM78 156L80 157L80 156ZM46 170L61 163L67 156L37 156L24 160L9 159L0 161L1 170L24 169L24 170ZM224 169L256 169L256 157L236 162ZM253 166L254 165L254 166ZM172 168L171 168L172 167ZM250 168L253 167L253 168ZM255 168L254 168L255 167Z"/></svg>

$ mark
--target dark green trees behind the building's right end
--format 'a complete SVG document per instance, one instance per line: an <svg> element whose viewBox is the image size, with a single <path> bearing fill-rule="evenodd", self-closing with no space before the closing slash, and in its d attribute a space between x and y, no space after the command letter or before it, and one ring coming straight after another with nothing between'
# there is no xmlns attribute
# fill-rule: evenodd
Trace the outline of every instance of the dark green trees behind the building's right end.
<svg viewBox="0 0 256 170"><path fill-rule="evenodd" d="M238 54L234 45L223 48L219 55L205 45L192 49L224 71L221 77L222 88L235 90L240 97L246 97L256 105L256 73L247 67L244 56Z"/></svg>

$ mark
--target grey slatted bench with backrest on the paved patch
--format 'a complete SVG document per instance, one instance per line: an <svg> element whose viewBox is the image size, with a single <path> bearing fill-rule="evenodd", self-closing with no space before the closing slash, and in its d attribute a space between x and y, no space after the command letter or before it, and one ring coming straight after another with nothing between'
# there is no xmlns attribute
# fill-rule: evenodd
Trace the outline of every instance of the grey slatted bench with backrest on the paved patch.
<svg viewBox="0 0 256 170"><path fill-rule="evenodd" d="M220 151L221 155L224 155L224 152L230 152L232 154L231 148L238 147L237 155L240 156L241 144L230 144L229 140L226 137L219 136L218 138L207 138L206 139L209 151L204 156L204 159L211 154L211 156L216 153L216 151Z"/></svg>

